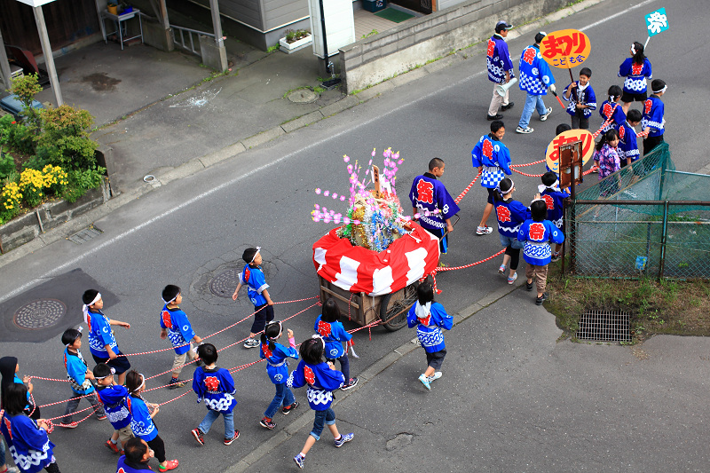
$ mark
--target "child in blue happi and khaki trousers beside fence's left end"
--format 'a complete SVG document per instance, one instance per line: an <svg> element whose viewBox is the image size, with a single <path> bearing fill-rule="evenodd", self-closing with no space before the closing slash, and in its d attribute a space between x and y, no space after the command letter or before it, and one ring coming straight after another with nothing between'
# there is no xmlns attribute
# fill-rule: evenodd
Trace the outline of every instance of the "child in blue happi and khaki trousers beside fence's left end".
<svg viewBox="0 0 710 473"><path fill-rule="evenodd" d="M535 304L541 305L548 298L545 287L548 281L548 264L552 259L552 250L549 248L550 240L555 243L564 241L564 234L558 230L555 224L547 220L548 205L540 198L540 194L535 196L535 200L530 204L532 218L525 220L517 233L517 240L525 241L523 258L527 263L525 276L527 284L525 289L533 290L533 278L537 283L538 296Z"/></svg>

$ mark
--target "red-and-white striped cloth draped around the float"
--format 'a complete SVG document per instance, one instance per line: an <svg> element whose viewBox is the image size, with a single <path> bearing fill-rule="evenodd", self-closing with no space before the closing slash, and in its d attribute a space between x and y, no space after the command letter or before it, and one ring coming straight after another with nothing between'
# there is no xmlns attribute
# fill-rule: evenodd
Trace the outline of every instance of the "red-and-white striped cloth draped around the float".
<svg viewBox="0 0 710 473"><path fill-rule="evenodd" d="M316 272L338 288L369 296L398 291L430 274L438 266L438 238L410 222L413 231L382 253L353 246L337 236L337 228L313 244Z"/></svg>

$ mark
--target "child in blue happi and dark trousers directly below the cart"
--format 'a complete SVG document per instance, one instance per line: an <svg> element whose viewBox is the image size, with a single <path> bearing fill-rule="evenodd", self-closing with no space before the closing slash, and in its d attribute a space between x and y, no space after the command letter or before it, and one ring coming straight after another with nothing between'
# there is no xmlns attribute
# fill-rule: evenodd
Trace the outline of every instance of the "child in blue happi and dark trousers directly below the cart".
<svg viewBox="0 0 710 473"><path fill-rule="evenodd" d="M343 342L352 346L352 335L345 331L340 322L340 308L335 299L327 299L323 304L323 313L316 319L313 330L326 341L326 360L340 361L340 370L345 376L345 384L341 390L349 390L358 383L358 378L350 377L350 359L348 351L343 350Z"/></svg>

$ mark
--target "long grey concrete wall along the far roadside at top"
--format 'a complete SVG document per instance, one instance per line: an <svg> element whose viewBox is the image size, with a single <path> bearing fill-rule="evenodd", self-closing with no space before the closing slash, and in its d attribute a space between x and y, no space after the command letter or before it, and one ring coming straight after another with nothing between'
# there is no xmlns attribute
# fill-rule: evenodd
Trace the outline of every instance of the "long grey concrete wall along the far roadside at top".
<svg viewBox="0 0 710 473"><path fill-rule="evenodd" d="M427 60L483 41L493 35L498 20L519 25L555 12L567 3L568 0L468 0L408 20L340 49L345 90L351 93L381 83Z"/></svg>

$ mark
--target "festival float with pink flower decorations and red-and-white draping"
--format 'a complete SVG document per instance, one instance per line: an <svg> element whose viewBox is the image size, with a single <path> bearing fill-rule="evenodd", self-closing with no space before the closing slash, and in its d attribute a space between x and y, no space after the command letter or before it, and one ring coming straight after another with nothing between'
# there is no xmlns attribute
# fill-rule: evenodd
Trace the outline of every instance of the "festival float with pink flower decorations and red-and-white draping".
<svg viewBox="0 0 710 473"><path fill-rule="evenodd" d="M376 155L372 152L372 158ZM344 212L315 204L315 222L339 225L313 244L320 300L334 298L343 315L361 326L382 323L390 331L406 326L419 281L438 266L439 240L407 217L395 190L398 153L383 153L383 171L370 159L363 166L343 156L348 193L316 189ZM372 185L370 185L372 184Z"/></svg>

